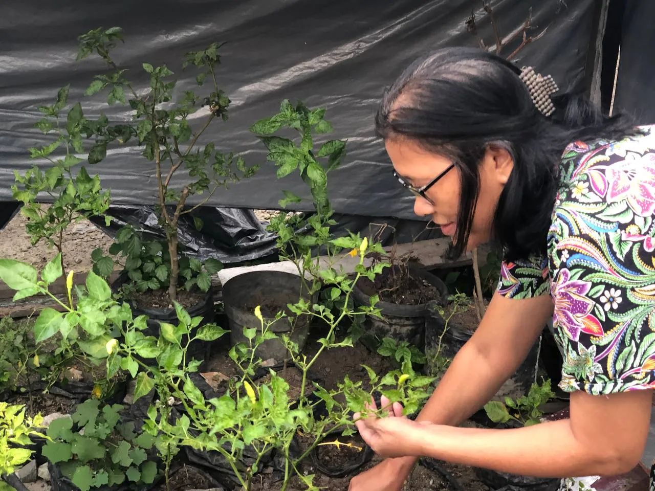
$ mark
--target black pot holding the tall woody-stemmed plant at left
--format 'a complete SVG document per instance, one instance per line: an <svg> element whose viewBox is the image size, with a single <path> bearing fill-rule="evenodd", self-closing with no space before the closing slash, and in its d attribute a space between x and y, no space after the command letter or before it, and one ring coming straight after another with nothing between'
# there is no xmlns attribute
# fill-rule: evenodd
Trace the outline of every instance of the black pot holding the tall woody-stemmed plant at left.
<svg viewBox="0 0 655 491"><path fill-rule="evenodd" d="M129 278L127 272L123 271L115 282L111 283L112 291L118 291L127 283ZM160 332L160 322L166 322L170 324L177 325L179 323L178 315L175 312L175 308L140 308L136 307L134 302L128 298L124 299L130 308L132 308L132 315L134 317L145 315L147 316L147 329L144 331L144 334L147 336L159 337ZM211 324L214 322L214 287L202 294L202 301L196 304L191 308L186 309L189 313L189 316L193 317L202 317L202 322L198 327L191 331L191 335L195 335L195 331L206 324ZM195 340L189 344L187 353L195 358L196 360L205 360L209 357L211 353L212 344L207 341ZM200 370L202 370L202 365L200 365Z"/></svg>

